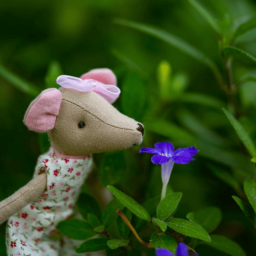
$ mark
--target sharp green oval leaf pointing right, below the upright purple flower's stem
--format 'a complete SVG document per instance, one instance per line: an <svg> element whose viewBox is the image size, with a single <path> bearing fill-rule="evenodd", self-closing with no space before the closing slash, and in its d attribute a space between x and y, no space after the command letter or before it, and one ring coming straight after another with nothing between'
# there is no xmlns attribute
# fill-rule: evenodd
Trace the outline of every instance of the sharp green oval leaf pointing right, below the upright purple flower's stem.
<svg viewBox="0 0 256 256"><path fill-rule="evenodd" d="M196 222L174 218L167 220L166 224L168 227L185 236L198 238L207 242L210 242L211 240L209 234Z"/></svg>

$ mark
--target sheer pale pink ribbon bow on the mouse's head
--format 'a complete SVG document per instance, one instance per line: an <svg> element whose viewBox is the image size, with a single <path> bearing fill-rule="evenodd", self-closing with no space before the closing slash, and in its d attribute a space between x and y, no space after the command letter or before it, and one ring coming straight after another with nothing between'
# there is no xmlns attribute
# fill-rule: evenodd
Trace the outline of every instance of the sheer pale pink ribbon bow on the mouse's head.
<svg viewBox="0 0 256 256"><path fill-rule="evenodd" d="M72 88L80 92L94 91L111 104L116 101L121 92L116 85L103 84L94 79L81 79L75 76L61 75L57 78L56 83L64 88Z"/></svg>

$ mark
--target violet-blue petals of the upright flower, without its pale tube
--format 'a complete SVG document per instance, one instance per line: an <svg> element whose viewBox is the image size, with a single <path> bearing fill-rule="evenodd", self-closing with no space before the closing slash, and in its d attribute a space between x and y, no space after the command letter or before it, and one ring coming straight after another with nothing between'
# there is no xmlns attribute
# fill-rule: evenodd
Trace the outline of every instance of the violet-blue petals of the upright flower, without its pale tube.
<svg viewBox="0 0 256 256"><path fill-rule="evenodd" d="M176 164L188 164L195 158L194 156L198 150L196 147L178 148L174 151L174 146L171 142L158 142L154 144L155 148L141 148L140 153L154 154L151 161L153 164L166 164L170 159Z"/></svg>

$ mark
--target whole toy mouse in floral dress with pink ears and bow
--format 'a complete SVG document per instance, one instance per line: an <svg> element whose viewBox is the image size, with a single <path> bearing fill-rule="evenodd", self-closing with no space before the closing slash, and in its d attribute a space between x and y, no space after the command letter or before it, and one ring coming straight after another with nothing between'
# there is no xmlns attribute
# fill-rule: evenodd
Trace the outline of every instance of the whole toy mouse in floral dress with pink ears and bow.
<svg viewBox="0 0 256 256"><path fill-rule="evenodd" d="M144 127L111 104L120 94L108 68L81 78L59 76L59 89L42 91L29 105L24 124L48 132L51 147L38 158L33 179L0 202L0 224L6 224L8 256L73 256L77 244L51 235L61 220L74 214L93 153L123 150L142 142ZM79 244L81 241L79 241Z"/></svg>

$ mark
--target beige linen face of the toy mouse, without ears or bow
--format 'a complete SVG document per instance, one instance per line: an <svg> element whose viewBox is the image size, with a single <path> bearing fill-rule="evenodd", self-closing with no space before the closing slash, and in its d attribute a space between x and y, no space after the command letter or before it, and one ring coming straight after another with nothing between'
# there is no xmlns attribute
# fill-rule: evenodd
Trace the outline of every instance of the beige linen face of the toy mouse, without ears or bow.
<svg viewBox="0 0 256 256"><path fill-rule="evenodd" d="M53 148L73 156L123 150L142 142L138 122L121 114L95 92L61 88L62 103L54 129L48 132ZM85 126L79 128L78 123Z"/></svg>

